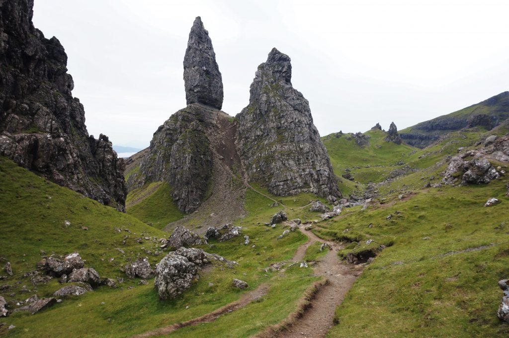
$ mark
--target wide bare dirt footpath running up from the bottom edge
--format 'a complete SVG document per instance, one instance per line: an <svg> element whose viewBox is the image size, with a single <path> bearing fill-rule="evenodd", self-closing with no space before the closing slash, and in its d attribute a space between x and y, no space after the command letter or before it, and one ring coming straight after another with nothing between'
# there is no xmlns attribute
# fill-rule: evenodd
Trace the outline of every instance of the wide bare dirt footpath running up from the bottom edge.
<svg viewBox="0 0 509 338"><path fill-rule="evenodd" d="M294 261L301 261L306 248L314 242L326 242L332 246L323 260L315 267L315 275L325 276L329 283L323 286L312 301L310 307L302 316L297 319L288 330L276 334L269 334L271 337L299 337L318 338L324 337L325 333L334 325L334 312L341 304L347 291L361 273L361 266L351 266L338 261L336 251L341 246L335 242L328 242L318 238L315 234L304 229L300 231L309 238L309 241L301 245L294 256ZM267 336L267 335L265 335Z"/></svg>

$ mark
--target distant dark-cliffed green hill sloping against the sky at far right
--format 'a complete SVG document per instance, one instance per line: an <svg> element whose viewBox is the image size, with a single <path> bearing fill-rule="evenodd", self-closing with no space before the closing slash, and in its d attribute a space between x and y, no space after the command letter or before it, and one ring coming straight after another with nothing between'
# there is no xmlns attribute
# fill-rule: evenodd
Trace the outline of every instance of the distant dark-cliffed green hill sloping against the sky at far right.
<svg viewBox="0 0 509 338"><path fill-rule="evenodd" d="M400 135L405 143L425 148L448 132L467 126L490 130L507 118L509 118L509 92L503 92L451 114L403 129Z"/></svg>

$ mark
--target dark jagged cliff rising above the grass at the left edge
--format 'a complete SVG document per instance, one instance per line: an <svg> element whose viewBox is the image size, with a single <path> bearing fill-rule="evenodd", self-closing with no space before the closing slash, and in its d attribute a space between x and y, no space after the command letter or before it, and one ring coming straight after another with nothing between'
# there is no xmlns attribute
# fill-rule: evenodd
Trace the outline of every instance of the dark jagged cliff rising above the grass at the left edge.
<svg viewBox="0 0 509 338"><path fill-rule="evenodd" d="M89 136L64 47L34 27L33 6L0 0L0 155L124 211L124 161Z"/></svg>

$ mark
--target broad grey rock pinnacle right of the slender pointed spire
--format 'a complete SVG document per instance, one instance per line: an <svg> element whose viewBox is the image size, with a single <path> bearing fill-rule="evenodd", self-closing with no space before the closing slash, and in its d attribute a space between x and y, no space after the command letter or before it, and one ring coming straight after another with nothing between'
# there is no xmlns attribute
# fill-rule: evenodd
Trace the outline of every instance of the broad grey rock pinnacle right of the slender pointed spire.
<svg viewBox="0 0 509 338"><path fill-rule="evenodd" d="M340 196L307 100L292 87L290 58L273 48L237 115L237 148L247 179L276 195Z"/></svg>

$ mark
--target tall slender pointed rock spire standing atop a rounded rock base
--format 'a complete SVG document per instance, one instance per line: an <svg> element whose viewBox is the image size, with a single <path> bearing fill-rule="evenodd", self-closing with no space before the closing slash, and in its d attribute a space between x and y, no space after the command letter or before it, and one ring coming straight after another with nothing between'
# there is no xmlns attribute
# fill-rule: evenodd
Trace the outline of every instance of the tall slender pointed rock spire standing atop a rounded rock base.
<svg viewBox="0 0 509 338"><path fill-rule="evenodd" d="M184 57L184 87L187 104L202 103L221 109L223 87L209 32L197 16L189 33Z"/></svg>

